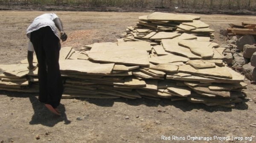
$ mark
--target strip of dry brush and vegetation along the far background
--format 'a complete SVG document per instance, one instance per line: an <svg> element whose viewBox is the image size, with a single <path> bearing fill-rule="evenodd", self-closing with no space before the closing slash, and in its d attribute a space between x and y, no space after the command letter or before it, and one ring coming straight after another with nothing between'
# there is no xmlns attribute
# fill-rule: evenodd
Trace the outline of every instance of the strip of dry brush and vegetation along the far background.
<svg viewBox="0 0 256 143"><path fill-rule="evenodd" d="M256 11L256 0L0 0L0 5L49 5L132 8L209 8Z"/></svg>

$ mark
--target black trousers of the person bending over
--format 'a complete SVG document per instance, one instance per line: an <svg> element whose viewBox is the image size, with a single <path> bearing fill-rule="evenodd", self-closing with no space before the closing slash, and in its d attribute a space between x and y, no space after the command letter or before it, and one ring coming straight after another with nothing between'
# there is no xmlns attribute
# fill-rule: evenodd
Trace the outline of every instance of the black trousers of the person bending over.
<svg viewBox="0 0 256 143"><path fill-rule="evenodd" d="M60 40L49 26L31 33L32 42L38 59L39 101L58 107L63 93L59 66Z"/></svg>

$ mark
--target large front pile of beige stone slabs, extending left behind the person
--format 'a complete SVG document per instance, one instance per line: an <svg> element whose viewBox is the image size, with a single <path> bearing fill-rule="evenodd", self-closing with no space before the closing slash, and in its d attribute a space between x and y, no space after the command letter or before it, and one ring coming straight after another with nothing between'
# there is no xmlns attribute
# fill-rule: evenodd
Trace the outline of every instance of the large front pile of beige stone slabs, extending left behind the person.
<svg viewBox="0 0 256 143"><path fill-rule="evenodd" d="M59 60L63 98L150 98L234 107L245 96L244 76L225 65L224 48L209 37L198 39L182 33L154 46L151 41L119 39L79 51L63 47ZM27 65L0 65L3 74L26 77L26 85L18 84L19 89L5 85L0 90L38 92L37 69L27 70Z"/></svg>

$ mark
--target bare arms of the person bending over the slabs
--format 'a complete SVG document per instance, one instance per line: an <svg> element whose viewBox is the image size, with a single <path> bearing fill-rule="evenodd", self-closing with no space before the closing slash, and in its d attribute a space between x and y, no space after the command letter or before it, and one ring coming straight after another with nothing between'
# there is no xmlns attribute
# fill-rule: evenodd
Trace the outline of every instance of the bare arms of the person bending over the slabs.
<svg viewBox="0 0 256 143"><path fill-rule="evenodd" d="M65 34L64 30L63 30L63 26L62 26L62 22L61 22L61 19L59 18L55 18L55 20L53 20L56 27L58 28L58 30L60 31L60 34L61 34L61 41L64 42L67 40L67 34ZM28 62L29 62L29 66L28 66L28 69L29 70L32 70L35 68L35 66L33 65L33 51L29 51L28 50L28 55L27 55L27 59L28 59Z"/></svg>

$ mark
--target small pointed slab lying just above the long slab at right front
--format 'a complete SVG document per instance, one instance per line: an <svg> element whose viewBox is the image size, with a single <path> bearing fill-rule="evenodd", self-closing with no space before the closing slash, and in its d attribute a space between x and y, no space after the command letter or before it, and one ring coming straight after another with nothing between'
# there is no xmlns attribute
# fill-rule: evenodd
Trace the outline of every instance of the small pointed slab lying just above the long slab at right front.
<svg viewBox="0 0 256 143"><path fill-rule="evenodd" d="M207 61L204 61L204 60L189 60L186 64L191 65L195 69L213 68L213 67L215 67L215 63L207 62Z"/></svg>

